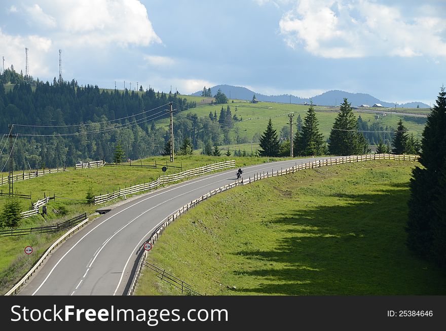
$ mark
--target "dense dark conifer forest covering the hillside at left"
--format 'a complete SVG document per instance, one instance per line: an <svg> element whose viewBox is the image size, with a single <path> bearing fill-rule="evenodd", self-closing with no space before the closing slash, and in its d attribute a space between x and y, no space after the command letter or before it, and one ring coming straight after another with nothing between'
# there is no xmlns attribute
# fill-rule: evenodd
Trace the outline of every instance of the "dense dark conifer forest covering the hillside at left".
<svg viewBox="0 0 446 331"><path fill-rule="evenodd" d="M102 90L75 80L44 83L24 79L13 68L0 75L0 82L15 84L9 91L0 84L0 133L8 134L14 124L14 169L112 161L118 142L126 158L160 155L168 128L157 128L154 121L169 116L169 102L178 111L196 106L177 93ZM9 151L5 138L0 149L4 146L2 164Z"/></svg>

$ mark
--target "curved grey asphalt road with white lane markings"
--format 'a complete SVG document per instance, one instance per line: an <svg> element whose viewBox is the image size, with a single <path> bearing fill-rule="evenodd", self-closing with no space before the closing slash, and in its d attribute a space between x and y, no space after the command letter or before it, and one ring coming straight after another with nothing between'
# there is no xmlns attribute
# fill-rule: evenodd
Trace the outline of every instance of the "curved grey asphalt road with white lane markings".
<svg viewBox="0 0 446 331"><path fill-rule="evenodd" d="M243 168L243 176L322 159L248 166ZM234 182L236 171L213 173L144 194L96 218L50 254L19 295L126 295L142 244L164 218L207 192Z"/></svg>

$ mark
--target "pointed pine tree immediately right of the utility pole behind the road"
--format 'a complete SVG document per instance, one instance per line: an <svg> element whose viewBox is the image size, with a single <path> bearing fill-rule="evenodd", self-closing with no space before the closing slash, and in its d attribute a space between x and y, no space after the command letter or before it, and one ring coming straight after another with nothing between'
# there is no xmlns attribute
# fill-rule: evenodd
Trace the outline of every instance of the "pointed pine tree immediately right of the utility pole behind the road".
<svg viewBox="0 0 446 331"><path fill-rule="evenodd" d="M294 139L294 153L296 155L323 155L325 154L325 141L319 133L318 120L314 106L310 105L304 118L302 132L296 132Z"/></svg>

